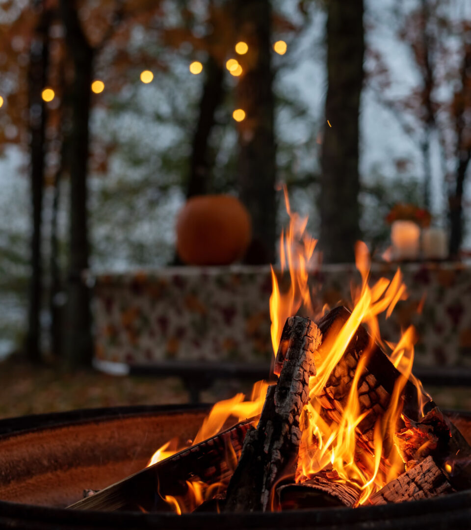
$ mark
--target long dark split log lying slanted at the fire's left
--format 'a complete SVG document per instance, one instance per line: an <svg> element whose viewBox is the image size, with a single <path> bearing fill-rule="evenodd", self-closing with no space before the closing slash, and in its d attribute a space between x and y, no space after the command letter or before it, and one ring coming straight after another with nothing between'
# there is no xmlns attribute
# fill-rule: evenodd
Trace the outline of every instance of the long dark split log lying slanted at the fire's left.
<svg viewBox="0 0 471 530"><path fill-rule="evenodd" d="M208 485L228 481L232 475L228 465L228 448L232 446L237 458L241 455L245 435L254 421L239 422L212 438L79 500L69 508L105 511L167 509L162 496L185 494L187 480L199 479ZM230 453L233 454L232 450Z"/></svg>

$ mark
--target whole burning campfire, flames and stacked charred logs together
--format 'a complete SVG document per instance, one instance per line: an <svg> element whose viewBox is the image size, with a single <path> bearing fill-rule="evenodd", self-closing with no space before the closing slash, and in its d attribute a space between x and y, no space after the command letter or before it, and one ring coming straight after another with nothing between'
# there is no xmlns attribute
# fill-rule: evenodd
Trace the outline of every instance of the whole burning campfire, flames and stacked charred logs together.
<svg viewBox="0 0 471 530"><path fill-rule="evenodd" d="M358 243L351 308L319 311L307 282L316 242L285 197L280 257L290 287L282 293L272 271L270 298L276 384L218 402L193 440L169 440L145 470L70 508L353 509L471 487L471 448L412 374L413 328L397 343L379 333L378 318L407 296L401 271L370 286Z"/></svg>

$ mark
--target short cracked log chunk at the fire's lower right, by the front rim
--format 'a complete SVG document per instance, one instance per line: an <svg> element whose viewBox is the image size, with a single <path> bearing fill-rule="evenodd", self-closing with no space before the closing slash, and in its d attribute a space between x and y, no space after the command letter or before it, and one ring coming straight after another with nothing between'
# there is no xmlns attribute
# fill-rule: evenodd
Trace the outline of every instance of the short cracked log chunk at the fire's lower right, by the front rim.
<svg viewBox="0 0 471 530"><path fill-rule="evenodd" d="M427 499L454 489L431 456L390 481L368 499L368 504Z"/></svg>

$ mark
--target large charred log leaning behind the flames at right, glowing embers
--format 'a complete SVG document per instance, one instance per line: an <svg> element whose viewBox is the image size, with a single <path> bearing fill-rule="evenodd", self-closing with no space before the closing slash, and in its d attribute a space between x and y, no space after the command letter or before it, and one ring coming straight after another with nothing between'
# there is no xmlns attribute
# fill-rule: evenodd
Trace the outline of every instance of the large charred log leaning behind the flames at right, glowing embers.
<svg viewBox="0 0 471 530"><path fill-rule="evenodd" d="M328 333L339 330L349 316L350 312L345 307L336 307L327 313L318 322L323 336L327 337ZM366 368L360 376L358 392L360 412L369 413L358 426L360 459L365 446L374 451L372 445L374 425L378 417L387 410L394 385L401 376L381 347L371 340L362 325L358 327L342 359L334 368L323 394L318 396L323 406L323 415L335 420L346 404L358 359L365 351L368 352L368 359ZM322 347L319 348L319 352L322 354ZM427 399L426 396L424 397ZM402 434L396 433L395 441L396 445L401 447L401 437L403 438L402 456L406 469L408 461L420 462L431 454L454 488L471 488L471 447L458 428L449 420L443 419L443 414L430 398L423 407L425 417L422 418L417 389L411 381L405 382L401 399L403 419L399 422L398 432ZM408 426L405 422L408 422ZM412 431L415 429L414 432L410 431L411 427ZM404 439L406 436L409 441ZM410 445L408 449L407 444ZM390 447L384 447L386 457L389 450ZM407 456L407 451L412 454Z"/></svg>

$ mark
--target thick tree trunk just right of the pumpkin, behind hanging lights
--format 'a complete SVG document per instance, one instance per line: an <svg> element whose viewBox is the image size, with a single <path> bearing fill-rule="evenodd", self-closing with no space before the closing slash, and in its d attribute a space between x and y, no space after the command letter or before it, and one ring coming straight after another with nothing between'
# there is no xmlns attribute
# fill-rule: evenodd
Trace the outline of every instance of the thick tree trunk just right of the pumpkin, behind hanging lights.
<svg viewBox="0 0 471 530"><path fill-rule="evenodd" d="M241 200L252 216L253 242L247 261L271 263L276 258L277 201L270 2L237 2L235 17L249 47L240 59L244 71L236 90L237 108L246 114L238 125L238 184Z"/></svg>

